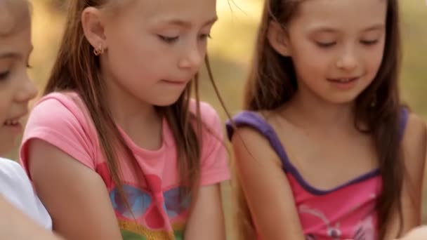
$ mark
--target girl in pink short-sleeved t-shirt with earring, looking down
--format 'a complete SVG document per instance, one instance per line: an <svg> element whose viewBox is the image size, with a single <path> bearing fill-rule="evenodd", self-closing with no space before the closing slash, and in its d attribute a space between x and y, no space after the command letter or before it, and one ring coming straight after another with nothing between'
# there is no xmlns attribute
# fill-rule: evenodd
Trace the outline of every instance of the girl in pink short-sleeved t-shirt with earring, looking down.
<svg viewBox="0 0 427 240"><path fill-rule="evenodd" d="M216 1L73 0L67 12L20 149L53 229L78 240L224 239L223 131L197 95Z"/></svg>

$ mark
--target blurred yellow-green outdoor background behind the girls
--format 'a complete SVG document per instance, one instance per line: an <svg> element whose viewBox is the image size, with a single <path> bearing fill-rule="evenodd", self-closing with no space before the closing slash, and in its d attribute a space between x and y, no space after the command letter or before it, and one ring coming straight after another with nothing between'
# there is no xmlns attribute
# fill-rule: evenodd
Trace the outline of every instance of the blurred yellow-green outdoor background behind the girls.
<svg viewBox="0 0 427 240"><path fill-rule="evenodd" d="M63 0L33 0L34 53L30 64L32 77L40 91L44 87L58 50L64 27ZM219 21L213 27L209 55L214 77L228 110L239 111L254 38L261 15L261 0L217 0ZM427 6L424 0L400 1L404 62L401 77L402 97L413 111L427 117ZM204 75L206 76L206 75ZM202 99L210 102L225 120L225 112L209 81L202 79ZM15 158L16 153L11 157ZM424 191L427 193L427 191ZM231 224L230 185L223 185L228 239L234 239ZM427 222L427 202L423 221Z"/></svg>

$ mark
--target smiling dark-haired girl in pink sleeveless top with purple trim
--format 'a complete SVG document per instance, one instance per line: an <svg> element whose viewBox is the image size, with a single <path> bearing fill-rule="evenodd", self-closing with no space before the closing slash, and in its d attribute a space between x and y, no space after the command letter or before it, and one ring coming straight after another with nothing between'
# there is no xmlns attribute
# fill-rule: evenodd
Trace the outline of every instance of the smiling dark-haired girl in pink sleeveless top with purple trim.
<svg viewBox="0 0 427 240"><path fill-rule="evenodd" d="M398 11L265 1L246 110L228 125L243 239L395 239L419 225L426 126L399 98Z"/></svg>

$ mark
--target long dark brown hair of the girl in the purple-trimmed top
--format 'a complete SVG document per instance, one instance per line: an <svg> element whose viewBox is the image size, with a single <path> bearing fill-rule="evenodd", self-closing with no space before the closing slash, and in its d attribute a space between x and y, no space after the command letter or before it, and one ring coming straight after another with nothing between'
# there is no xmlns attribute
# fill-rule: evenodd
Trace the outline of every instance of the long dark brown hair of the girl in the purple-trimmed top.
<svg viewBox="0 0 427 240"><path fill-rule="evenodd" d="M298 5L303 0L267 0L263 10L261 26L258 29L254 62L250 67L249 81L244 96L244 108L251 111L276 109L292 98L298 90L296 73L291 58L277 53L268 43L267 32L270 22L286 26L298 14ZM400 69L400 27L398 1L387 1L386 44L379 72L355 100L355 127L372 135L379 171L383 182L382 192L376 204L379 217L379 238L383 239L386 227L393 215L400 217L402 209L400 196L405 174L402 151L400 149L400 98L398 76ZM360 124L363 124L362 127ZM239 190L239 189L237 189ZM240 232L254 232L249 210L242 192L239 190L240 213L243 223ZM249 221L248 221L249 220ZM244 239L254 236L245 235Z"/></svg>

